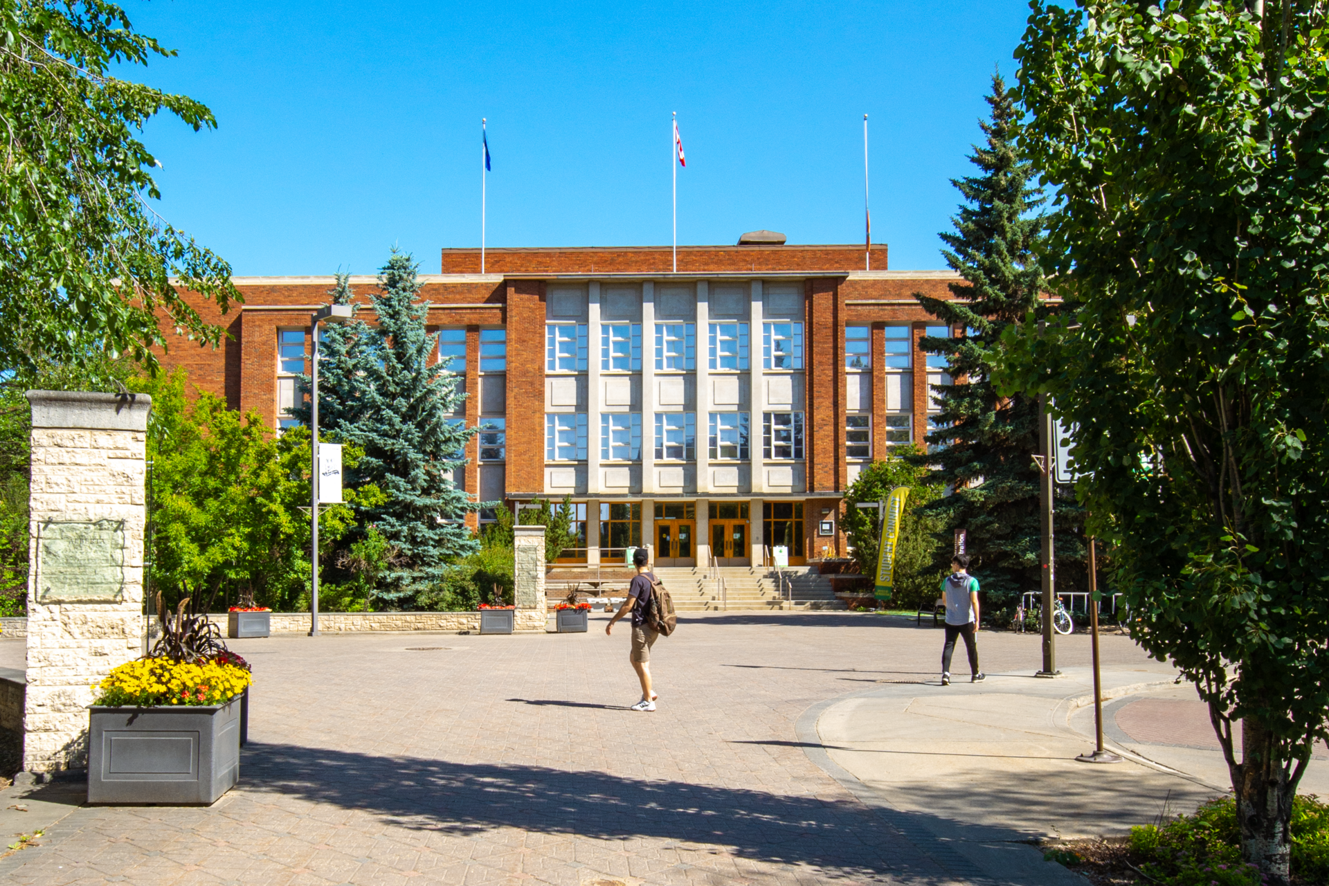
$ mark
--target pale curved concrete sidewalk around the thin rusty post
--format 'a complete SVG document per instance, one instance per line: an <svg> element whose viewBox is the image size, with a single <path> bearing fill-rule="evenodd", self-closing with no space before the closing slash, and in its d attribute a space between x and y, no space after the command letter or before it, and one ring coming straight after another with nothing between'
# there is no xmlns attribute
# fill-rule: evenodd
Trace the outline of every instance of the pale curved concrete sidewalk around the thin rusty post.
<svg viewBox="0 0 1329 886"><path fill-rule="evenodd" d="M1083 883L1031 843L1124 836L1228 790L1212 731L1212 747L1203 745L1204 705L1175 677L1156 662L1103 671L1104 740L1127 757L1111 765L1075 760L1094 749L1086 667L1054 680L1017 672L949 687L882 681L809 709L800 737L860 800L916 822L990 877ZM1317 753L1302 792L1326 789L1329 753Z"/></svg>

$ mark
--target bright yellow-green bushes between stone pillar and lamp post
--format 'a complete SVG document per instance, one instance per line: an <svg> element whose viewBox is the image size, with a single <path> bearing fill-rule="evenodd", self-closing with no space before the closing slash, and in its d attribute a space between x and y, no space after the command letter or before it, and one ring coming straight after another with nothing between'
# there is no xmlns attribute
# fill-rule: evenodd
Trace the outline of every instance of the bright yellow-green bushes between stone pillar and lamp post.
<svg viewBox="0 0 1329 886"><path fill-rule="evenodd" d="M256 413L241 416L221 397L185 397L185 373L133 381L153 396L149 494L153 550L149 576L167 606L185 595L222 591L278 611L307 600L310 523L308 432L274 437ZM354 464L358 450L344 450ZM347 489L351 503L380 501L373 486ZM330 507L319 523L326 553L352 519L351 505ZM323 539L327 538L327 542Z"/></svg>

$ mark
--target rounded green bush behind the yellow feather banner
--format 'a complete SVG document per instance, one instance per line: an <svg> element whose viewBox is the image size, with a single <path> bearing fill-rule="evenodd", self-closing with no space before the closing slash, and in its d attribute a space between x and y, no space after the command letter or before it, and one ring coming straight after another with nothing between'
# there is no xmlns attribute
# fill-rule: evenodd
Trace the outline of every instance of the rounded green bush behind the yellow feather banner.
<svg viewBox="0 0 1329 886"><path fill-rule="evenodd" d="M942 487L928 482L928 469L909 464L905 458L886 458L868 465L844 494L845 511L840 525L849 537L849 547L859 571L874 575L877 554L881 550L881 529L877 511L857 507L859 502L876 502L890 494L896 486L908 486L904 518L900 521L900 541L896 547L896 584L892 603L917 607L922 600L937 596L945 569L938 559L950 558L950 545L938 541L941 519L929 513L928 503L941 497Z"/></svg>

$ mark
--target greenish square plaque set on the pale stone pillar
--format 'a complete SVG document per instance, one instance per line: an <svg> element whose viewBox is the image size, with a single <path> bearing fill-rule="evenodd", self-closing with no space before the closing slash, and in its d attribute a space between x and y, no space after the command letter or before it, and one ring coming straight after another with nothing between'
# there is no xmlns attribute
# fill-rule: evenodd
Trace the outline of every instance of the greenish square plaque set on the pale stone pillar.
<svg viewBox="0 0 1329 886"><path fill-rule="evenodd" d="M39 603L118 603L125 521L45 521L37 527Z"/></svg>

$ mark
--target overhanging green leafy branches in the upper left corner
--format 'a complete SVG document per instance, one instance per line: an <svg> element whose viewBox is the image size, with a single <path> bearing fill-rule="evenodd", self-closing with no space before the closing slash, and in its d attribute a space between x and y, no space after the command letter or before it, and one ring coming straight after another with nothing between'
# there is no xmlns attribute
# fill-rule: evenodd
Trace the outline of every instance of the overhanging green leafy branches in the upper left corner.
<svg viewBox="0 0 1329 886"><path fill-rule="evenodd" d="M150 207L157 161L134 138L162 110L195 132L213 114L109 76L175 53L101 0L5 3L0 33L0 368L97 353L154 368L173 328L219 343L179 291L225 311L242 300L230 266Z"/></svg>

